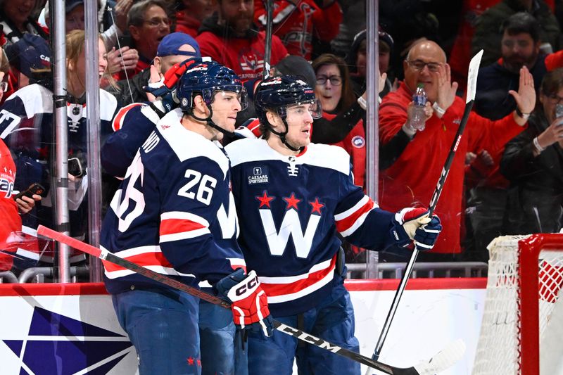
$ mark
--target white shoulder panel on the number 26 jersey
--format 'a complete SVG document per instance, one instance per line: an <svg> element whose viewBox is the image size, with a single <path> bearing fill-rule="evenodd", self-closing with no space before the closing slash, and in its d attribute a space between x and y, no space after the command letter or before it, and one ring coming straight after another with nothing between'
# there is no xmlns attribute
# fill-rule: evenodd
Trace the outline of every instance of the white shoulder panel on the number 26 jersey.
<svg viewBox="0 0 563 375"><path fill-rule="evenodd" d="M180 121L182 110L170 111L158 121L156 129L170 145L181 162L191 158L204 157L213 160L223 172L223 178L229 172L229 159L224 155L222 146L204 136L186 129Z"/></svg>

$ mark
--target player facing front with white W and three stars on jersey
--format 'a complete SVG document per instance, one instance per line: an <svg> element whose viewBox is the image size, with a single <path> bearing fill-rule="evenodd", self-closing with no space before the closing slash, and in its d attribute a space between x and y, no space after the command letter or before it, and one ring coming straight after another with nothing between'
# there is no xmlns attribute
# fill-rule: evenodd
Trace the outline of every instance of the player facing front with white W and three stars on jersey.
<svg viewBox="0 0 563 375"><path fill-rule="evenodd" d="M424 208L397 214L379 209L353 184L346 151L310 144L320 107L302 80L265 80L255 108L264 139L226 147L247 267L258 274L272 317L358 352L338 234L373 250L411 246L413 239L430 249L440 220L429 218ZM291 336L249 333L251 375L291 374L294 357L300 374L360 374L357 362L298 345Z"/></svg>

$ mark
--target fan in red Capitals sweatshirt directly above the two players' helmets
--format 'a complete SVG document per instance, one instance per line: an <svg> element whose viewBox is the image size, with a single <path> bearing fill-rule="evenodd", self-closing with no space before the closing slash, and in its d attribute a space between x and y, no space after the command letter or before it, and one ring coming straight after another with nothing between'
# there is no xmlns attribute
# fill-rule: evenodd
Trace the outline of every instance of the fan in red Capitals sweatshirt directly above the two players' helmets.
<svg viewBox="0 0 563 375"><path fill-rule="evenodd" d="M201 56L231 68L243 81L260 77L264 70L266 36L263 31L255 31L253 16L252 1L220 1L219 10L203 21L196 38ZM281 40L272 35L270 65L276 65L287 54Z"/></svg>

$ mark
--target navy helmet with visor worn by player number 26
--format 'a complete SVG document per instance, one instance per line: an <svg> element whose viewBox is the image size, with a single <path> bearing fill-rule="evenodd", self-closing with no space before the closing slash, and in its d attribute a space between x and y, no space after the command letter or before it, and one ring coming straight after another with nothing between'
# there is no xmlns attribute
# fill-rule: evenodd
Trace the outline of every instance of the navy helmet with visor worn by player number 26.
<svg viewBox="0 0 563 375"><path fill-rule="evenodd" d="M203 61L201 58L192 58L189 68L182 74L178 82L176 95L180 102L182 112L191 115L196 120L207 121L208 125L215 127L220 132L232 136L231 132L219 127L211 121L213 110L211 103L217 91L231 91L239 95L241 110L248 107L248 95L236 73L216 61ZM201 95L210 110L209 117L202 119L194 116L194 98Z"/></svg>

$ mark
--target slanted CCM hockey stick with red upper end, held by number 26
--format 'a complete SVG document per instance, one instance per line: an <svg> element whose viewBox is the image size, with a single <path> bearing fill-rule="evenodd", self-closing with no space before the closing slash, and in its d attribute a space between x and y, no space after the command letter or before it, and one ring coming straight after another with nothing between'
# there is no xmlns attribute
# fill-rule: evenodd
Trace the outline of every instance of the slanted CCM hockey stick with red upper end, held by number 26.
<svg viewBox="0 0 563 375"><path fill-rule="evenodd" d="M101 250L100 248L96 248L77 239L73 239L72 237L69 237L61 232L53 231L53 229L39 225L39 227L37 228L37 234L46 236L49 239L53 239L61 243L65 243L72 248L83 251L84 253L92 255L96 258L100 258L101 260L112 262L115 265L124 267L133 272L137 272L144 277L148 277L148 279L153 279L162 284L178 289L179 291L184 291L191 295L195 295L203 300L208 301L209 303L214 303L215 305L220 305L221 307L227 309L231 307L230 303L228 303L226 300L215 297L215 295L201 291L198 288L187 286L186 284L183 284L175 279L167 277L163 274L158 274L151 269L141 267L140 265L137 265L133 262L129 262L129 260L120 258L118 257L118 255L110 253L107 250ZM400 368L377 362L375 360L372 360L371 358L360 355L360 353L353 352L346 348L341 348L338 345L323 340L322 338L318 338L310 335L307 332L301 331L301 329L296 329L291 326L287 326L286 324L277 322L277 320L274 320L274 328L277 329L277 331L286 333L287 335L298 338L301 341L305 341L305 343L310 343L311 345L315 345L318 348L329 350L330 352L334 352L335 354L346 357L349 360L360 362L361 364L365 364L368 367L372 367L373 369L377 369L384 372L385 374L391 375L433 375L436 373L436 371L443 371L445 368L447 368L445 367L436 370L435 364L439 366L447 366L450 363L453 364L457 362L457 360L459 360L465 350L464 345L455 345L455 347L450 347L447 350L442 350L437 355L432 357L428 362L417 364L417 366L415 367Z"/></svg>

